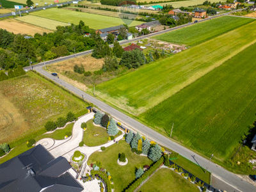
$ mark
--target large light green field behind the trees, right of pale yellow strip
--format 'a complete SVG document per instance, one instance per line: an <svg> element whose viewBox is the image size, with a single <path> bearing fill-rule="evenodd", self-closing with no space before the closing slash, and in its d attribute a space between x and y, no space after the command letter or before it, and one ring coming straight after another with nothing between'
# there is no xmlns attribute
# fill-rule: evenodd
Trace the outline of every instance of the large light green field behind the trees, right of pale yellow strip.
<svg viewBox="0 0 256 192"><path fill-rule="evenodd" d="M120 19L116 17L108 17L92 13L75 12L57 8L34 12L31 14L47 19L53 19L73 24L78 24L80 20L83 20L84 24L92 29L109 28L113 26L118 26L120 24L136 26L142 23L136 20Z"/></svg>

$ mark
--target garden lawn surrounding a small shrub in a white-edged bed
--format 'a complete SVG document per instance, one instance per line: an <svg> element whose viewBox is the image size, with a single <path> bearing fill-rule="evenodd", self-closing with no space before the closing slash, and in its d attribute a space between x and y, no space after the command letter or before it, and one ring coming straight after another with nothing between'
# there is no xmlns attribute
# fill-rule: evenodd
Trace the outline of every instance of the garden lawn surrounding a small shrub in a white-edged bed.
<svg viewBox="0 0 256 192"><path fill-rule="evenodd" d="M128 159L128 164L120 166L117 163L118 154L125 153ZM88 159L87 164L95 161L102 163L102 168L106 168L107 172L111 174L114 181L115 191L122 191L126 188L132 180L135 179L135 172L137 168L145 164L152 164L153 162L145 156L138 156L131 152L131 147L124 140L120 140L118 144L111 145L103 152L94 152Z"/></svg>

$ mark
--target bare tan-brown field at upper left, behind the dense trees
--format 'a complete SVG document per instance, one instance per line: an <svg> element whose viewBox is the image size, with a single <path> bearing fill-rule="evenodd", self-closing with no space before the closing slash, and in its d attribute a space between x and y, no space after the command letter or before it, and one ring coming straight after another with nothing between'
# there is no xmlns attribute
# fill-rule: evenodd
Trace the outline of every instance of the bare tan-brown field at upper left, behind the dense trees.
<svg viewBox="0 0 256 192"><path fill-rule="evenodd" d="M15 19L4 19L0 20L0 28L6 29L6 31L18 34L35 35L35 33L50 33L52 31L44 28L39 28L25 22L21 22Z"/></svg>

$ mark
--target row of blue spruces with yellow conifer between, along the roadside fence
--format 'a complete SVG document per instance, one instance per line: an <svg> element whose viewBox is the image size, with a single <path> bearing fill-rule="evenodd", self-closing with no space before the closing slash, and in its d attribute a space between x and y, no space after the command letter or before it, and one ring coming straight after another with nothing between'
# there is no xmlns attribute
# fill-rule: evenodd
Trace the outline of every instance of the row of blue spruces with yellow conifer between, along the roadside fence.
<svg viewBox="0 0 256 192"><path fill-rule="evenodd" d="M162 156L162 149L158 144L151 145L150 142L145 138L141 137L140 132L137 132L135 135L132 131L125 137L125 141L131 145L132 152L136 154L145 154L152 161L157 161Z"/></svg>

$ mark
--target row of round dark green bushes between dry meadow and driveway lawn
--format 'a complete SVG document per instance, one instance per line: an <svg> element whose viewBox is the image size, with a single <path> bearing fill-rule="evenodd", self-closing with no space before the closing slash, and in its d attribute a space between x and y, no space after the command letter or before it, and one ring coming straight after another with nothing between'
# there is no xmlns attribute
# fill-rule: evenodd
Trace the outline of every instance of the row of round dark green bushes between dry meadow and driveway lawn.
<svg viewBox="0 0 256 192"><path fill-rule="evenodd" d="M59 117L56 122L54 121L48 121L44 125L45 129L47 131L54 131L57 127L64 127L67 122L72 122L74 120L77 120L77 117L72 112L68 112L66 117Z"/></svg>

